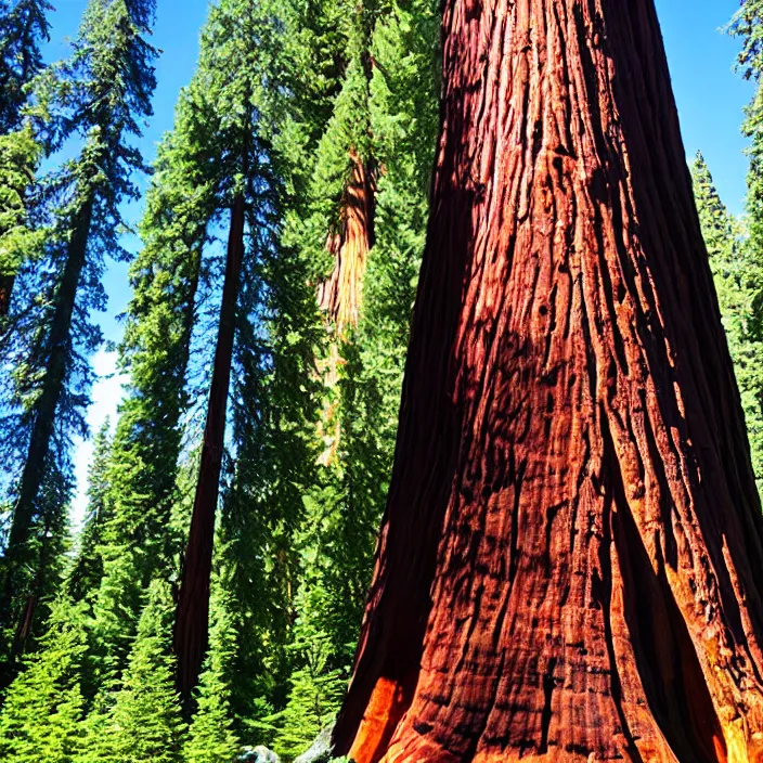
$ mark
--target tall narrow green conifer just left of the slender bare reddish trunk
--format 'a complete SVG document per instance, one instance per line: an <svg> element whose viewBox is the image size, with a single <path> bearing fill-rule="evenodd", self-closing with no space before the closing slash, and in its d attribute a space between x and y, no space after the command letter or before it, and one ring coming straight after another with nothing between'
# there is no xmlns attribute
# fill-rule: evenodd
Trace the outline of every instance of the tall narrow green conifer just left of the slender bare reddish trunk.
<svg viewBox="0 0 763 763"><path fill-rule="evenodd" d="M214 209L203 85L180 95L173 130L158 150L143 248L130 267L133 295L119 363L129 374L106 474L104 576L93 594L94 641L104 670L125 665L145 587L169 579L180 540L171 531L187 366L196 322L202 251Z"/></svg>

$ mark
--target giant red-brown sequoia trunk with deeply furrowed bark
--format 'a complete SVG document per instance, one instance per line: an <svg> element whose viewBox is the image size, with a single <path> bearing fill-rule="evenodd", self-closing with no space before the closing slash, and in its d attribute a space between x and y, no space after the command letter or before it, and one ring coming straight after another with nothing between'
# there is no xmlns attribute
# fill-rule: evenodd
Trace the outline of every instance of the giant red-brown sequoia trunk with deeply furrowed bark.
<svg viewBox="0 0 763 763"><path fill-rule="evenodd" d="M763 760L763 519L652 0L449 0L335 752Z"/></svg>

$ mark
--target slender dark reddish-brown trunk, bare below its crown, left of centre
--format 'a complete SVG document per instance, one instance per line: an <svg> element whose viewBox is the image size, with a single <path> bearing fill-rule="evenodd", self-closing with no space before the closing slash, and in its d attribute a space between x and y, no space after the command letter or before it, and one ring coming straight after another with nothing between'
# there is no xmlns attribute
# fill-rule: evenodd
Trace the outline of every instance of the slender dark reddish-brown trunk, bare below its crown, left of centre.
<svg viewBox="0 0 763 763"><path fill-rule="evenodd" d="M174 621L174 654L178 658L177 688L184 701L191 697L207 648L209 583L215 542L215 515L225 438L225 412L233 359L236 305L244 259L244 194L233 201L228 238L225 281L222 287L215 365L202 444L189 542L183 557L183 577Z"/></svg>

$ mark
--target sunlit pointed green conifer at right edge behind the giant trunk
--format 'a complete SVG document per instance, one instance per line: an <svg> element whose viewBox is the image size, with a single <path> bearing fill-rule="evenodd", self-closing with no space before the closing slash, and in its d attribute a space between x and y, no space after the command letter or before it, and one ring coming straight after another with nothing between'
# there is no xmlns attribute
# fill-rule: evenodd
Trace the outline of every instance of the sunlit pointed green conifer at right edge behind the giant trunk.
<svg viewBox="0 0 763 763"><path fill-rule="evenodd" d="M763 302L763 271L754 243L743 241L739 225L724 206L701 154L691 167L694 193L710 268L717 292L723 326L741 395L752 468L763 490L763 337L755 311Z"/></svg>

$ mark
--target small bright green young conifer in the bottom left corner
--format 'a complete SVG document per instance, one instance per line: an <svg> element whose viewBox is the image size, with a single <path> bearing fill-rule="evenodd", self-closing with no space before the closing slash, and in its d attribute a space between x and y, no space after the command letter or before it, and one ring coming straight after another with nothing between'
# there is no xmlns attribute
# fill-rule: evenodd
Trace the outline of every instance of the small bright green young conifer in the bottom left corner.
<svg viewBox="0 0 763 763"><path fill-rule="evenodd" d="M61 599L39 652L25 660L0 710L3 761L70 763L80 746L85 700L79 673L85 652L82 608Z"/></svg>

